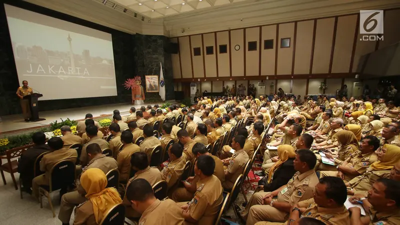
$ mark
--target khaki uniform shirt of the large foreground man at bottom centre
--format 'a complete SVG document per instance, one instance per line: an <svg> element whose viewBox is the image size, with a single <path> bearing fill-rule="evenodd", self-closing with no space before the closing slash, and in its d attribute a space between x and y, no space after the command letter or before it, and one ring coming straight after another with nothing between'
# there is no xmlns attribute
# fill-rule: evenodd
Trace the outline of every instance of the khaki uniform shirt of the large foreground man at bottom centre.
<svg viewBox="0 0 400 225"><path fill-rule="evenodd" d="M196 224L213 224L223 201L222 186L214 175L197 181L193 199L188 203L190 216Z"/></svg>

